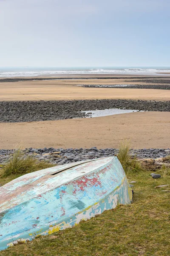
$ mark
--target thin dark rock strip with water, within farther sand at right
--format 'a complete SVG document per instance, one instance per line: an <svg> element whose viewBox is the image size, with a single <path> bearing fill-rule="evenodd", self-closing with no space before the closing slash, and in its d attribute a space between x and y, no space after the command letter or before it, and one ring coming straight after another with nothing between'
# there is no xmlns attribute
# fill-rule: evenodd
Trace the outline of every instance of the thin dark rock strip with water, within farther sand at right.
<svg viewBox="0 0 170 256"><path fill-rule="evenodd" d="M79 86L87 88L129 88L170 90L170 84L79 84Z"/></svg>

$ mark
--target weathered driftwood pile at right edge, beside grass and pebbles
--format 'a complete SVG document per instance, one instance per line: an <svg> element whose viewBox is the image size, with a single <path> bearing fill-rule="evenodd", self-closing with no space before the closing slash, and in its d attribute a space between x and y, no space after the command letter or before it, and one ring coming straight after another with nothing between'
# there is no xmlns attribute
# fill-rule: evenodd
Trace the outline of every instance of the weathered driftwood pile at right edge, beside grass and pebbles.
<svg viewBox="0 0 170 256"><path fill-rule="evenodd" d="M144 168L147 169L160 169L161 166L170 167L170 157L161 158L143 158L138 160Z"/></svg>

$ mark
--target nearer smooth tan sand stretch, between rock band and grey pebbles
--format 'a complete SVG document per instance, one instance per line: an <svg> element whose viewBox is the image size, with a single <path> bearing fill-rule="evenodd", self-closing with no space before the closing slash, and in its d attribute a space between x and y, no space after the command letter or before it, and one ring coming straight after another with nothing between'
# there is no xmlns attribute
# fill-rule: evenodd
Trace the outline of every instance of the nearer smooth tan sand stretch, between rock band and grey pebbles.
<svg viewBox="0 0 170 256"><path fill-rule="evenodd" d="M130 138L133 148L169 148L170 112L136 112L96 118L0 123L0 148L117 148Z"/></svg>

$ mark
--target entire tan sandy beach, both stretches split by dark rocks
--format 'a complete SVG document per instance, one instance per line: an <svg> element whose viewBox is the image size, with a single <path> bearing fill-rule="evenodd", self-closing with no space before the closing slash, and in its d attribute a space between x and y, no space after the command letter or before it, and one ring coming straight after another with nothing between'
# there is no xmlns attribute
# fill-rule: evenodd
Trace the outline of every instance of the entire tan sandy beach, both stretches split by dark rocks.
<svg viewBox="0 0 170 256"><path fill-rule="evenodd" d="M75 76L65 78L68 77ZM106 79L108 75L83 75L87 79L81 79L82 76L76 77L79 79L0 82L0 101L140 99L168 102L170 100L170 90L77 86L78 84L148 84L149 82L161 86L164 82L168 83L168 77L111 76L110 79ZM97 77L99 79L96 79ZM140 80L137 81L136 77ZM23 116L24 113L21 115ZM15 123L3 122L0 123L0 148L6 149L13 148L21 141L26 147L35 148L44 146L116 148L119 141L124 138L131 139L133 148L170 147L170 112L128 113L89 119L39 122L22 122L22 120Z"/></svg>

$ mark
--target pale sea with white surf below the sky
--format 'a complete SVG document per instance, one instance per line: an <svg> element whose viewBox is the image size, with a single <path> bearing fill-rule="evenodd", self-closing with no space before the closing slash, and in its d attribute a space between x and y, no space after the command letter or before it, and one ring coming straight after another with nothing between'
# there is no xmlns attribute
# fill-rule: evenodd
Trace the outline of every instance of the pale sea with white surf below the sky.
<svg viewBox="0 0 170 256"><path fill-rule="evenodd" d="M82 74L170 76L166 73L170 73L170 67L0 67L0 78Z"/></svg>

